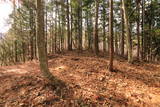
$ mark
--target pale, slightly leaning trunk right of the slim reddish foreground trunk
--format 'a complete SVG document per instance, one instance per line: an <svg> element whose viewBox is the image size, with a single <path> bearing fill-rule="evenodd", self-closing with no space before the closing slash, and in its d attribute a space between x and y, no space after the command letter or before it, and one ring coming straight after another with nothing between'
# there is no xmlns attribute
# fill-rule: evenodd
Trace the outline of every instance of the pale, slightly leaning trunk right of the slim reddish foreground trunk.
<svg viewBox="0 0 160 107"><path fill-rule="evenodd" d="M128 62L132 63L132 41L131 41L131 32L130 32L130 25L129 25L129 18L127 14L126 8L126 1L122 0L122 7L124 11L124 22L126 28L126 35L127 35L127 51L128 51Z"/></svg>

